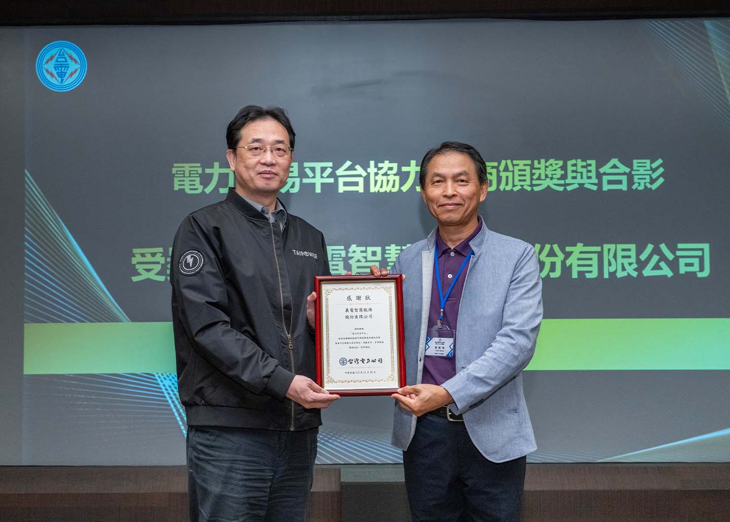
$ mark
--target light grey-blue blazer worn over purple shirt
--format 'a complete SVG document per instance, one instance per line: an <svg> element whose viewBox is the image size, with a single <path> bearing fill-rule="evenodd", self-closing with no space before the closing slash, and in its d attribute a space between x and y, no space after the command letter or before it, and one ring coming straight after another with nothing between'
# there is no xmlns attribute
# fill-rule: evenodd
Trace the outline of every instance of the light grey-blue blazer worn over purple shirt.
<svg viewBox="0 0 730 522"><path fill-rule="evenodd" d="M403 283L406 379L421 382L431 302L436 230L403 250L393 274ZM520 372L535 351L542 321L542 280L534 248L484 225L470 243L456 327L456 375L443 383L464 414L466 430L480 452L504 462L534 451L532 425ZM393 445L405 450L416 417L396 403Z"/></svg>

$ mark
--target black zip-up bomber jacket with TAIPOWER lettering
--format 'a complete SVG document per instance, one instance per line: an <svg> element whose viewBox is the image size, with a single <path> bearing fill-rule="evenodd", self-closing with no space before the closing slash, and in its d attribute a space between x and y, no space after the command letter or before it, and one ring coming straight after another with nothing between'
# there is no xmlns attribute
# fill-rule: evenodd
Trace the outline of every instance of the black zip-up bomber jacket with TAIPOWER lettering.
<svg viewBox="0 0 730 522"><path fill-rule="evenodd" d="M172 247L172 326L180 401L192 426L302 430L320 410L285 394L315 378L307 295L329 275L322 233L288 215L283 231L234 189L188 215Z"/></svg>

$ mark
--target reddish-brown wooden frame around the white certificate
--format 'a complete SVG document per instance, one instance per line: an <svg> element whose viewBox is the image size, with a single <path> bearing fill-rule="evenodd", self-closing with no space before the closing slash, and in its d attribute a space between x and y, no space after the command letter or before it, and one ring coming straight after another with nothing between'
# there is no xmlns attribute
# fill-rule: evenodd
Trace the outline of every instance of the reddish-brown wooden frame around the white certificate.
<svg viewBox="0 0 730 522"><path fill-rule="evenodd" d="M372 280L392 280L396 283L396 326L398 327L398 388L406 385L406 358L405 358L405 334L403 323L403 280L401 274L385 275L374 277L372 275L318 275L315 276L315 292L317 292L317 300L315 301L315 352L317 361L317 384L323 386L323 357L322 357L322 283L328 281L372 281ZM337 388L327 388L332 394L342 396L358 396L358 395L391 395L398 391L398 388L361 388L358 390L338 390Z"/></svg>

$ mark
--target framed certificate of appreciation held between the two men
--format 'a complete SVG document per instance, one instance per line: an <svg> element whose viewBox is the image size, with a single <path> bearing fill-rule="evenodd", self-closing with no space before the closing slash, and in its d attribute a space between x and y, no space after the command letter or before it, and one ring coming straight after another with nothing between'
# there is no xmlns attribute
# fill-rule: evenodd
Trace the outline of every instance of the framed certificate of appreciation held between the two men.
<svg viewBox="0 0 730 522"><path fill-rule="evenodd" d="M405 385L403 276L315 277L317 384L339 395Z"/></svg>

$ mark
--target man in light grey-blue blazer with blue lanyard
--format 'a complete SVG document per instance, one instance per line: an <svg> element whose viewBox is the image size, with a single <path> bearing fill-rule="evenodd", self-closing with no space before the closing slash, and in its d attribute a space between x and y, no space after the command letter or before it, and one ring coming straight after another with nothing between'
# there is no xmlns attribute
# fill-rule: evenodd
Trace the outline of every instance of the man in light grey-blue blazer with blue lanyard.
<svg viewBox="0 0 730 522"><path fill-rule="evenodd" d="M415 522L518 521L536 448L520 372L535 350L542 281L534 248L480 218L487 189L474 147L429 150L420 193L438 226L393 264L406 275L410 383L393 394L393 445Z"/></svg>

